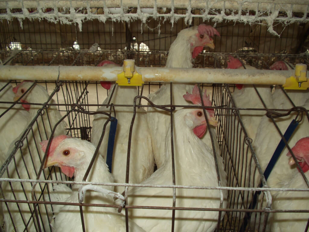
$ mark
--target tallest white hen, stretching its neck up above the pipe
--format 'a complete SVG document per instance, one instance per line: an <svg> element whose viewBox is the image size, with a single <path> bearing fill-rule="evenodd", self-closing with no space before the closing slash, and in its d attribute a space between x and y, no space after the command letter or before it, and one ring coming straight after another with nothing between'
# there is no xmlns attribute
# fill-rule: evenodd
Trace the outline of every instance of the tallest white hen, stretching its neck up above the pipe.
<svg viewBox="0 0 309 232"><path fill-rule="evenodd" d="M181 30L175 41L171 44L168 51L166 67L168 68L192 68L193 58L203 50L204 46L214 49L214 42L211 38L214 35L219 36L219 32L210 25L200 24L190 28ZM172 84L173 104L188 105L182 94L184 92L192 92L194 84ZM156 105L169 105L170 101L170 84L163 84L155 93L149 95L150 101ZM157 167L161 167L166 157L165 140L167 128L170 125L170 114L167 111L157 108L148 108L147 117L150 127L152 139L152 147L154 151ZM214 131L212 131L214 133ZM210 146L209 133L205 136L205 142ZM214 133L215 137L215 133ZM218 149L218 145L217 145Z"/></svg>

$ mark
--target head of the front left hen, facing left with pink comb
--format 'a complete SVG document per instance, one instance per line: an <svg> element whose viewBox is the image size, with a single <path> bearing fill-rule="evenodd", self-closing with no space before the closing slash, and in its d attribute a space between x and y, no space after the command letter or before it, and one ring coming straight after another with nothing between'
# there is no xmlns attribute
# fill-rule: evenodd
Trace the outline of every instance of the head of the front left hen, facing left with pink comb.
<svg viewBox="0 0 309 232"><path fill-rule="evenodd" d="M78 149L81 140L68 135L59 135L51 141L44 168L58 166L68 177L73 177L84 163L85 152ZM48 140L40 142L43 152L46 151Z"/></svg>

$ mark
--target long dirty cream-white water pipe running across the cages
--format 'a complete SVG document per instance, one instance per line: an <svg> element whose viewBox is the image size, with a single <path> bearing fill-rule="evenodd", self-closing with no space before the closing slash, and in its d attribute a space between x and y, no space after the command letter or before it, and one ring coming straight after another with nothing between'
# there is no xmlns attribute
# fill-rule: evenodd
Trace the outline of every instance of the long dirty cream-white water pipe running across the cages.
<svg viewBox="0 0 309 232"><path fill-rule="evenodd" d="M116 81L123 67L0 66L0 79ZM285 84L290 71L136 67L143 81L176 83ZM59 76L58 76L59 75Z"/></svg>

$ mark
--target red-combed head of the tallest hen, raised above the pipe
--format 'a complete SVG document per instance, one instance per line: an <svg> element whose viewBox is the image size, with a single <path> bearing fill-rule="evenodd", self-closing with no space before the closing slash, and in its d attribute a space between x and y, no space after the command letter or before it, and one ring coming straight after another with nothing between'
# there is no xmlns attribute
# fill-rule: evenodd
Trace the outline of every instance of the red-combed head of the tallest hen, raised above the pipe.
<svg viewBox="0 0 309 232"><path fill-rule="evenodd" d="M220 36L219 32L210 25L200 24L197 33L191 37L190 45L193 47L192 58L195 58L205 46L214 49L213 36Z"/></svg>

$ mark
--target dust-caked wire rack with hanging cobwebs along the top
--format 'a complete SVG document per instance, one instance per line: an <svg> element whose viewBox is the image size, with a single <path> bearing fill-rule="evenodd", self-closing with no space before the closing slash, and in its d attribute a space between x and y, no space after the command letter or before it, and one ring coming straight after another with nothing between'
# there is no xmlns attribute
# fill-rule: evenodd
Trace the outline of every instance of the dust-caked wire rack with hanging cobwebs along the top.
<svg viewBox="0 0 309 232"><path fill-rule="evenodd" d="M179 14L177 9L186 9L185 14ZM245 24L263 24L268 26L268 31L280 36L274 26L295 22L306 23L308 3L286 3L281 0L263 2L251 1L222 1L222 0L171 0L171 1L1 1L0 19L11 20L17 18L23 27L23 19L47 19L50 22L63 24L77 24L82 31L82 24L86 20L98 19L101 22L132 21L140 19L145 23L147 19L169 20L174 22L184 18L185 24L191 24L193 18L202 18L220 23L223 20L241 22ZM295 13L297 12L297 13ZM215 26L215 25L214 25ZM160 33L160 31L159 31Z"/></svg>

